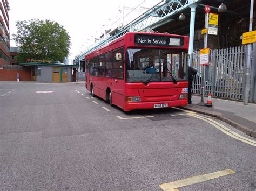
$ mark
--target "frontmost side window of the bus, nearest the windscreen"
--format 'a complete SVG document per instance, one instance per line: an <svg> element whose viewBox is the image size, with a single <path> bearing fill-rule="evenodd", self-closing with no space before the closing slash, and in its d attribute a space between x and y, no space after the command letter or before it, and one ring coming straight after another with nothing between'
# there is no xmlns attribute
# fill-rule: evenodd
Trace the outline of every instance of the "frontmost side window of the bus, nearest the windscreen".
<svg viewBox="0 0 256 191"><path fill-rule="evenodd" d="M120 55L121 54L121 55ZM116 58L116 56L118 58ZM113 77L124 78L124 48L114 51Z"/></svg>

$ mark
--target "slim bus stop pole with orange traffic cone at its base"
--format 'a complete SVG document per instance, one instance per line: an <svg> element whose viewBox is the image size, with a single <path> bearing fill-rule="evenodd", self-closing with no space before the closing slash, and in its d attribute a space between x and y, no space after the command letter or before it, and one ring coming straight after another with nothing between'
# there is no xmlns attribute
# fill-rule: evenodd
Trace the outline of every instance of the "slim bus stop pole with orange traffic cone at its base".
<svg viewBox="0 0 256 191"><path fill-rule="evenodd" d="M207 32L204 35L204 49L207 48L207 40L208 40L208 20L209 20L209 13L205 13L205 29ZM201 102L198 105L205 105L205 65L202 67L201 73Z"/></svg>

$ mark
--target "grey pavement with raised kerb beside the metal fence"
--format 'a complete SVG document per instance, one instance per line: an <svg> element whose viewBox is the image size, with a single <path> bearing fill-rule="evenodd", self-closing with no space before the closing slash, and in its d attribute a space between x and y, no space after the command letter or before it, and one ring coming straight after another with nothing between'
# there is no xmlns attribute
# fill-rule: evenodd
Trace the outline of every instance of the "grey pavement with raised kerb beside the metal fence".
<svg viewBox="0 0 256 191"><path fill-rule="evenodd" d="M208 96L205 96L205 103L207 98ZM200 100L200 96L192 95L192 104L182 108L218 118L248 136L256 138L256 104L244 105L238 101L212 98L213 107L206 107L197 105Z"/></svg>

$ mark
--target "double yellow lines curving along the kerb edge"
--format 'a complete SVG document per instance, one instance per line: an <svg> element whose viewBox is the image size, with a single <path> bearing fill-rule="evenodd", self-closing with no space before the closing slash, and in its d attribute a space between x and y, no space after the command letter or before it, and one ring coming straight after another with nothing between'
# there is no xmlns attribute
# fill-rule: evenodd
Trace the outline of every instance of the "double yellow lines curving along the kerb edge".
<svg viewBox="0 0 256 191"><path fill-rule="evenodd" d="M226 135L233 137L234 139L240 140L241 142L256 146L256 141L252 140L252 139L248 139L244 136L239 135L238 133L232 131L231 129L227 128L226 126L224 126L223 124L220 124L216 121L214 121L211 118L207 118L207 117L203 117L203 116L199 116L197 114L188 114L192 117L196 117L199 118L207 123L210 123L211 125L213 125L215 128L219 129L220 131L224 132Z"/></svg>

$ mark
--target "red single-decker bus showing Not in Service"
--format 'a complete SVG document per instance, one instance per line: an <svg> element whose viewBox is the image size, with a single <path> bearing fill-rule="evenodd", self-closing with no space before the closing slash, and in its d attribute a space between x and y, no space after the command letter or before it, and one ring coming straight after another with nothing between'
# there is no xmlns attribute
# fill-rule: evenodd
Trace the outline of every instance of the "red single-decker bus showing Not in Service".
<svg viewBox="0 0 256 191"><path fill-rule="evenodd" d="M124 111L187 105L188 37L129 32L85 55L86 89Z"/></svg>

